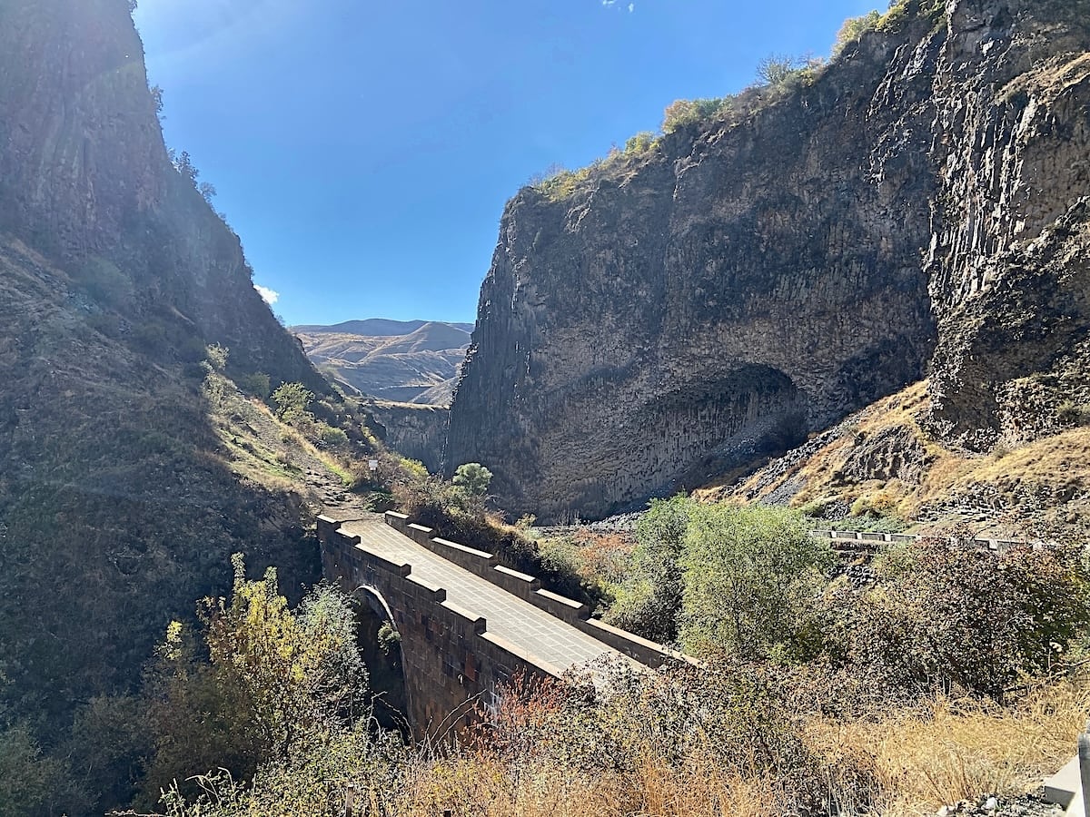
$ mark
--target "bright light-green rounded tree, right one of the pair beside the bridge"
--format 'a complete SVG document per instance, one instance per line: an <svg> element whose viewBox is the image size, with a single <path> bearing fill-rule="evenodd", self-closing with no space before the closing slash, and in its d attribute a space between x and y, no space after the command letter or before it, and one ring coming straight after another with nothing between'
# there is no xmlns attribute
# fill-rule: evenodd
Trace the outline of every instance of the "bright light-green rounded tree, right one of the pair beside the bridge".
<svg viewBox="0 0 1090 817"><path fill-rule="evenodd" d="M831 560L795 511L693 504L681 560L681 642L743 658L799 655Z"/></svg>

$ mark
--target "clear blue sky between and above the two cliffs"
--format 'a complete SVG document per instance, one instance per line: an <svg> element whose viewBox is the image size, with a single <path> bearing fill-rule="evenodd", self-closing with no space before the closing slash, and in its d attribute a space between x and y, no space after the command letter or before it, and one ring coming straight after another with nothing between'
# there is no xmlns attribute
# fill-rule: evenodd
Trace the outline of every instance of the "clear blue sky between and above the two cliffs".
<svg viewBox="0 0 1090 817"><path fill-rule="evenodd" d="M881 3L881 0L879 0ZM141 0L187 150L289 324L472 321L504 204L874 0ZM881 3L884 8L884 3Z"/></svg>

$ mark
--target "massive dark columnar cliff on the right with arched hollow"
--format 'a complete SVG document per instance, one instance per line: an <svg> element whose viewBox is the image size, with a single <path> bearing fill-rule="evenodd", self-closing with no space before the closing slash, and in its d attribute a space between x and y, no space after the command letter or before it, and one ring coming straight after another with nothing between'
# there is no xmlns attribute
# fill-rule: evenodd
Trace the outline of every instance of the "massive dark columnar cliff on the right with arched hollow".
<svg viewBox="0 0 1090 817"><path fill-rule="evenodd" d="M751 92L565 195L521 191L447 468L487 465L514 514L601 516L929 367L936 428L994 438L1004 383L1087 337L1070 235L1090 193L1090 3L920 5L811 83Z"/></svg>

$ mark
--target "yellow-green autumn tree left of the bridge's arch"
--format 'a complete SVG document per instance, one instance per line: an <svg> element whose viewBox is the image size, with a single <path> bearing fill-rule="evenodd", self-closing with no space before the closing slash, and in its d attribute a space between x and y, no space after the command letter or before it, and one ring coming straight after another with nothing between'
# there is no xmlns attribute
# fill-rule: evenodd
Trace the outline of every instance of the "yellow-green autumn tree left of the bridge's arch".
<svg viewBox="0 0 1090 817"><path fill-rule="evenodd" d="M242 556L232 563L230 600L198 607L203 644L173 622L159 648L147 684L150 795L173 778L214 768L247 778L258 763L306 754L366 712L366 672L348 599L318 585L291 610L275 569L251 582Z"/></svg>

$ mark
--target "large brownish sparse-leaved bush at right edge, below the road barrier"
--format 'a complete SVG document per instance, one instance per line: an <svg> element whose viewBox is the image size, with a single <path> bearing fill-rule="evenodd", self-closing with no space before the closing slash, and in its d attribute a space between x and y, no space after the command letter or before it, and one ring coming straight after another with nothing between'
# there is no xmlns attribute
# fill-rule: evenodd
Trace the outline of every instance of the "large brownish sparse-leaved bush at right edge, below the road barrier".
<svg viewBox="0 0 1090 817"><path fill-rule="evenodd" d="M834 617L850 672L908 696L956 686L1002 703L1020 679L1062 664L1090 624L1090 575L1074 548L995 554L967 532L886 561L883 580L840 597Z"/></svg>

